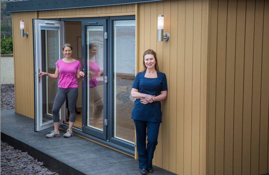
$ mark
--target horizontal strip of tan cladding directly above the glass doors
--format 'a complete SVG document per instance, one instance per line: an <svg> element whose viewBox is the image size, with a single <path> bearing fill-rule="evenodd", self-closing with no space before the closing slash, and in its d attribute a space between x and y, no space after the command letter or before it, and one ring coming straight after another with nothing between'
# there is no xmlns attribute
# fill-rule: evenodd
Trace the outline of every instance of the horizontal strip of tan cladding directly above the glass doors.
<svg viewBox="0 0 269 175"><path fill-rule="evenodd" d="M39 19L42 18L77 18L96 16L122 16L134 15L135 4L109 5L102 7L85 7L75 9L59 9L38 11Z"/></svg>

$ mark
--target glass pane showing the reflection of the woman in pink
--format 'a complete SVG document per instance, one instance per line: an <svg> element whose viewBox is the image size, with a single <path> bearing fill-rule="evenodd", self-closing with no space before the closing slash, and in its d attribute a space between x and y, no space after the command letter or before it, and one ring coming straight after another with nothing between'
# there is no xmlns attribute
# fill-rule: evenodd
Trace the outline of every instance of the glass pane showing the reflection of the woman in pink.
<svg viewBox="0 0 269 175"><path fill-rule="evenodd" d="M103 26L87 26L87 126L103 130Z"/></svg>

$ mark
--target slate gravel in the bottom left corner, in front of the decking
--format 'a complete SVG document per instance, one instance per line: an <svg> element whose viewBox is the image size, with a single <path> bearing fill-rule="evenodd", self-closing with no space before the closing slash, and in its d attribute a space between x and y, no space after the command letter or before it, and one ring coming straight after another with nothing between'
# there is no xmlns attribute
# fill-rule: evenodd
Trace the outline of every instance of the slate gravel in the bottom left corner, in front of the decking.
<svg viewBox="0 0 269 175"><path fill-rule="evenodd" d="M43 162L31 157L27 152L14 149L1 141L1 175L59 175L43 166Z"/></svg>

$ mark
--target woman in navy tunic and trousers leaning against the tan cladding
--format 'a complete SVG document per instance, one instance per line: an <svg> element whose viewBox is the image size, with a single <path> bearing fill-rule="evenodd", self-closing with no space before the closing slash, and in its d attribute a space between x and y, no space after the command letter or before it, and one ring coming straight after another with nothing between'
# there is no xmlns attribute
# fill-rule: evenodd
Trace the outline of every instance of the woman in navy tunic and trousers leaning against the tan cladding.
<svg viewBox="0 0 269 175"><path fill-rule="evenodd" d="M152 159L162 122L161 100L167 95L167 81L159 71L157 54L149 49L143 54L144 68L135 76L132 97L136 98L132 119L136 129L136 145L141 174L153 172ZM146 147L147 136L147 147Z"/></svg>

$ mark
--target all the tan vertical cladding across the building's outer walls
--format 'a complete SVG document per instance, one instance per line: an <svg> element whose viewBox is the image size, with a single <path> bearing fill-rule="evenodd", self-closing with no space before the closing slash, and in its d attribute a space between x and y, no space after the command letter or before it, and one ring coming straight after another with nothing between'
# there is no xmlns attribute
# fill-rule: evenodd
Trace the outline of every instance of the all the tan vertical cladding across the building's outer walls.
<svg viewBox="0 0 269 175"><path fill-rule="evenodd" d="M32 18L136 15L136 72L157 52L168 94L153 164L180 175L269 172L269 1L165 0L13 12L16 112L34 118ZM157 42L157 15L169 41ZM24 20L28 37L20 37Z"/></svg>

